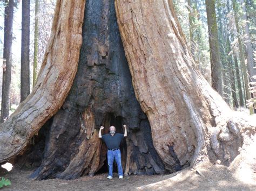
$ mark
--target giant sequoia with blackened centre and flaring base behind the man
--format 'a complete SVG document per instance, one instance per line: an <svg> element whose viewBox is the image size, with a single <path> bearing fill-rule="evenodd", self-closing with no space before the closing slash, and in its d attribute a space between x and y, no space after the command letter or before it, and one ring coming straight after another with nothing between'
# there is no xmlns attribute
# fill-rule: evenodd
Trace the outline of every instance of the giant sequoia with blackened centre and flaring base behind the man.
<svg viewBox="0 0 256 191"><path fill-rule="evenodd" d="M172 1L57 1L36 86L1 125L0 162L23 153L39 161L34 179L93 175L106 168L99 126L125 123L125 174L228 165L255 133L235 116L194 66Z"/></svg>

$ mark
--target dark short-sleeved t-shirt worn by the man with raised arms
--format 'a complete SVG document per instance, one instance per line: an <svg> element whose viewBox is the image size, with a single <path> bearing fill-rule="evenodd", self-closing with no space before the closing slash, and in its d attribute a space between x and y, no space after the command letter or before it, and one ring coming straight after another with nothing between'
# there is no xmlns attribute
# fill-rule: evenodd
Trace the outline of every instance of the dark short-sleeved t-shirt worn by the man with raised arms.
<svg viewBox="0 0 256 191"><path fill-rule="evenodd" d="M114 133L114 135L106 134L102 136L102 140L106 143L107 148L118 148L122 139L124 138L124 134Z"/></svg>

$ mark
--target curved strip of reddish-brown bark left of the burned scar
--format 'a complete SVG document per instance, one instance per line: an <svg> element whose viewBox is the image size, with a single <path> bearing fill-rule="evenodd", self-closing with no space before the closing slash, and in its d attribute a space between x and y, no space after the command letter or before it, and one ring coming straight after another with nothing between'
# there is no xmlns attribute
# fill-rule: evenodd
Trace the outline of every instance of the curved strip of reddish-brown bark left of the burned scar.
<svg viewBox="0 0 256 191"><path fill-rule="evenodd" d="M77 71L84 4L85 0L57 2L36 86L10 118L0 124L0 162L24 151L31 137L65 101Z"/></svg>

